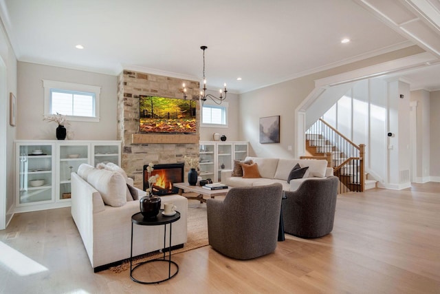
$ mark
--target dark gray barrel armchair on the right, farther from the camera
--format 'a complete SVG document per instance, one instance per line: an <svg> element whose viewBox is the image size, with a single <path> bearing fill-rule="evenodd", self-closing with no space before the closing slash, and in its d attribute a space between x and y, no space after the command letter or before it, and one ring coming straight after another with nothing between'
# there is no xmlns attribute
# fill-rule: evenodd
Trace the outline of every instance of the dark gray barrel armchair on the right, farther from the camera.
<svg viewBox="0 0 440 294"><path fill-rule="evenodd" d="M283 200L284 231L300 238L318 238L333 230L338 178L305 180Z"/></svg>

